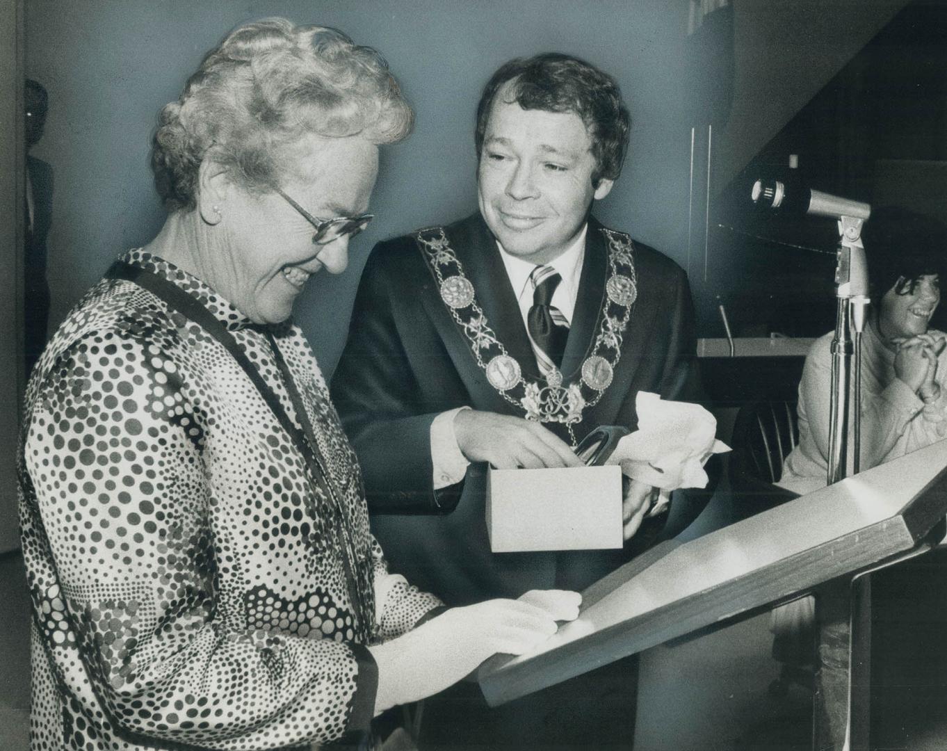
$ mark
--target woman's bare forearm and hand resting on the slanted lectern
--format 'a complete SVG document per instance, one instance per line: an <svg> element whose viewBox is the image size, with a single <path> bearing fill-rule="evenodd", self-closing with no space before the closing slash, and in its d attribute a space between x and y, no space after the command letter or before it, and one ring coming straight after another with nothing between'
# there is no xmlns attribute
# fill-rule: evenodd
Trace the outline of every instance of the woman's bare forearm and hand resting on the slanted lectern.
<svg viewBox="0 0 947 751"><path fill-rule="evenodd" d="M369 647L378 664L375 714L454 685L493 654L528 652L556 633L556 621L578 617L580 602L577 592L531 590L520 599L451 608Z"/></svg>

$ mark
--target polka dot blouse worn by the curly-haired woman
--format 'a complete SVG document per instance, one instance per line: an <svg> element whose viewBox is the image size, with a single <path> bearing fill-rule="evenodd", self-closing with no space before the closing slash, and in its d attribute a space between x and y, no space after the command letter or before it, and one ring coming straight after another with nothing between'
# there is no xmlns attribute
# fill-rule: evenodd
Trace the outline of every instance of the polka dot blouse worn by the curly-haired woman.
<svg viewBox="0 0 947 751"><path fill-rule="evenodd" d="M27 389L32 748L292 748L366 730L366 645L440 603L387 573L312 350L166 261L121 260L213 313L301 428L269 331L325 471L217 340L133 282L99 282Z"/></svg>

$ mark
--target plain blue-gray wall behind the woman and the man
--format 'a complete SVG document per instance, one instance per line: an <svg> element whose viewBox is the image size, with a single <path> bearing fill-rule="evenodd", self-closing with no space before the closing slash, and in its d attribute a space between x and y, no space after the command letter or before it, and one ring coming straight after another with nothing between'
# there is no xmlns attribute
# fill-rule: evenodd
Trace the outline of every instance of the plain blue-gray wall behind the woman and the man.
<svg viewBox="0 0 947 751"><path fill-rule="evenodd" d="M479 91L512 57L558 50L613 74L632 110L624 174L599 218L684 264L689 127L687 3L669 0L27 0L27 76L49 92L33 153L55 170L49 277L55 327L122 250L163 221L148 150L158 110L177 98L231 27L270 15L339 27L379 49L417 112L386 150L371 209L343 277L315 277L295 315L331 371L371 245L475 208Z"/></svg>

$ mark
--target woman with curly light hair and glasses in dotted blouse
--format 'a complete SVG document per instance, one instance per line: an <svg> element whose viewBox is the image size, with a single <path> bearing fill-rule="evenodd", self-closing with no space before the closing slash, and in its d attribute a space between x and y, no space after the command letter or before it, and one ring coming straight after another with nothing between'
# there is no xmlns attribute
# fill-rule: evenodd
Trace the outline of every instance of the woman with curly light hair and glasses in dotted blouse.
<svg viewBox="0 0 947 751"><path fill-rule="evenodd" d="M412 115L327 28L240 27L165 107L169 208L69 314L27 392L34 749L262 749L521 653L574 593L441 612L386 571L296 297L343 271ZM420 625L419 625L420 624Z"/></svg>

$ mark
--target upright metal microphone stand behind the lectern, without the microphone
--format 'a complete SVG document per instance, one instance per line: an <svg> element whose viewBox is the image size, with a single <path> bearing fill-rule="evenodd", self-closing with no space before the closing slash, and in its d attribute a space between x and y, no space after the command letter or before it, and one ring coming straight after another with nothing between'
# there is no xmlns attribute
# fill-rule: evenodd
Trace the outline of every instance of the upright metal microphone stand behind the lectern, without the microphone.
<svg viewBox="0 0 947 751"><path fill-rule="evenodd" d="M841 216L838 221L839 247L835 266L835 335L831 343L831 395L829 421L829 468L831 485L848 476L846 466L849 445L849 378L852 353L855 355L855 405L850 410L854 461L853 472L860 469L862 332L865 331L868 304L868 275L862 225L865 220ZM854 343L849 337L854 330Z"/></svg>

